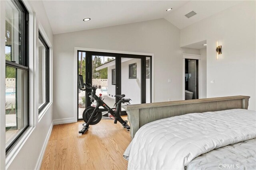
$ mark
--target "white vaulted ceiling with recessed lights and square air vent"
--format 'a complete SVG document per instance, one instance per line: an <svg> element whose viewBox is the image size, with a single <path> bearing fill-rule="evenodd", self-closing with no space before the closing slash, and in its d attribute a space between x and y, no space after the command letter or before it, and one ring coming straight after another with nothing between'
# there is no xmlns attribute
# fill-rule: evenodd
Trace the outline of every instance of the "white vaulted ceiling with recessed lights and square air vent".
<svg viewBox="0 0 256 170"><path fill-rule="evenodd" d="M182 29L240 1L43 0L54 34L165 18ZM173 10L166 12L166 9ZM184 15L194 10L189 19ZM83 21L91 18L90 21Z"/></svg>

